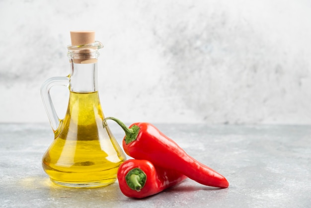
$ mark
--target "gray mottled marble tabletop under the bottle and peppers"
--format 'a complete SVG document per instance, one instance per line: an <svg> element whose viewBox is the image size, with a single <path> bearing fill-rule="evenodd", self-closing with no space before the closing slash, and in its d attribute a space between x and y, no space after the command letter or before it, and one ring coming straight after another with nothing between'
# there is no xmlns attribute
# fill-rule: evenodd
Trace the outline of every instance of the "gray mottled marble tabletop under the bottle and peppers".
<svg viewBox="0 0 311 208"><path fill-rule="evenodd" d="M134 200L114 183L96 189L53 185L41 157L48 124L0 124L0 207L310 207L311 126L157 124L200 162L223 174L228 189L190 179ZM121 143L122 129L110 125Z"/></svg>

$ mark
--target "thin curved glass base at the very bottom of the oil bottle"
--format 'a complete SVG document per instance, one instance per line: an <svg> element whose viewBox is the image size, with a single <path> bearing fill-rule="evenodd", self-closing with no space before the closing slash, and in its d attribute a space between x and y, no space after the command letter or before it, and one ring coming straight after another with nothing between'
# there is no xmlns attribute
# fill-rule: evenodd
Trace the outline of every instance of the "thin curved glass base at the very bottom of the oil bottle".
<svg viewBox="0 0 311 208"><path fill-rule="evenodd" d="M66 182L66 181L57 181L52 178L50 178L50 180L58 186L68 188L98 188L108 186L116 181L116 179L107 179L102 181Z"/></svg>

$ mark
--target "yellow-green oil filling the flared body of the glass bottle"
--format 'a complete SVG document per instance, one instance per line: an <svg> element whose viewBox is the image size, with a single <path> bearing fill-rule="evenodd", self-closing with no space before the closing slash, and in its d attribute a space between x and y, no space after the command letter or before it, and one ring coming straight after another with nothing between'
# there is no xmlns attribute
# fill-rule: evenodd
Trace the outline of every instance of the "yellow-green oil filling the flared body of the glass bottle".
<svg viewBox="0 0 311 208"><path fill-rule="evenodd" d="M103 126L97 92L70 92L67 113L42 166L52 182L67 187L100 187L116 181L126 156Z"/></svg>

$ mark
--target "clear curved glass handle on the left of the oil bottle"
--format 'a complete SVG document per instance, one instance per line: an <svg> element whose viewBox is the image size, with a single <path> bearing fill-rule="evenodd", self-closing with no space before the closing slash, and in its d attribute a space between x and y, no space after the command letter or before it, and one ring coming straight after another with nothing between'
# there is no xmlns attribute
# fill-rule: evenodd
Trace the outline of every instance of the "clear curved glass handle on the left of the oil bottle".
<svg viewBox="0 0 311 208"><path fill-rule="evenodd" d="M52 129L55 132L60 126L61 119L57 115L50 95L50 89L53 86L69 87L69 77L52 77L46 80L41 86L41 98L48 114Z"/></svg>

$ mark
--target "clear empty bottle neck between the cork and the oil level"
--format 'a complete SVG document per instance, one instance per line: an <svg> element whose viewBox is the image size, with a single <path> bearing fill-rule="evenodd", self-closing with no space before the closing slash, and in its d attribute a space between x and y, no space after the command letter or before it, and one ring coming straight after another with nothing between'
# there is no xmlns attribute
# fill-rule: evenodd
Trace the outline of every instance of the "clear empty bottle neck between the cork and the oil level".
<svg viewBox="0 0 311 208"><path fill-rule="evenodd" d="M70 91L77 93L96 92L97 63L77 64L71 60Z"/></svg>

